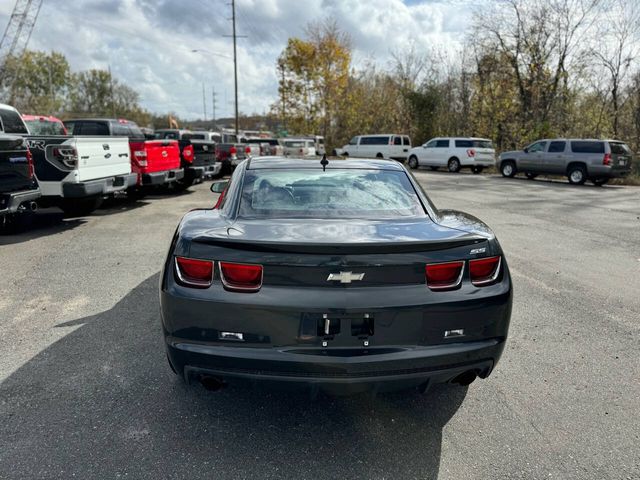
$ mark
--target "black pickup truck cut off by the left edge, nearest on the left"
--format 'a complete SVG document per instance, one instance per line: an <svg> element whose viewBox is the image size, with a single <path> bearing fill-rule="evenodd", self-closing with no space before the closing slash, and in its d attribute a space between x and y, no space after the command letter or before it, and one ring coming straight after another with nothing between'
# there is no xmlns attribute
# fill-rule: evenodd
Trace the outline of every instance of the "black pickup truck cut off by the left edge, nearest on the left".
<svg viewBox="0 0 640 480"><path fill-rule="evenodd" d="M5 125L5 129L11 128ZM31 152L20 135L0 133L0 230L21 213L35 211L40 189Z"/></svg>

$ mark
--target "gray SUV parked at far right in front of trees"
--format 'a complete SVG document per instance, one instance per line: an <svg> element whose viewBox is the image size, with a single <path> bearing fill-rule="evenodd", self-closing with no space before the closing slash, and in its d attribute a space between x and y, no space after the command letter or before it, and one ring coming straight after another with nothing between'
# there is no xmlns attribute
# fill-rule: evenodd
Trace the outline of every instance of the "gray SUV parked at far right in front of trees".
<svg viewBox="0 0 640 480"><path fill-rule="evenodd" d="M618 140L555 138L500 154L498 167L504 177L518 173L529 179L539 174L566 175L569 183L576 185L587 180L604 185L610 178L628 175L632 161L633 153Z"/></svg>

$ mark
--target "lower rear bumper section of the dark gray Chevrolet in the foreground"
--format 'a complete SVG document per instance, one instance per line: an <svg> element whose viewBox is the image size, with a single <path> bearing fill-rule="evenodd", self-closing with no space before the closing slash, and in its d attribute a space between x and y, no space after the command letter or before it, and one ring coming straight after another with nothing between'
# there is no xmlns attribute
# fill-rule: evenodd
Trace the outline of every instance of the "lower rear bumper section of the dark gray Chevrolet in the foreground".
<svg viewBox="0 0 640 480"><path fill-rule="evenodd" d="M486 378L504 338L433 346L360 349L243 348L166 338L169 361L187 382L212 376L227 382L264 382L332 394L390 391L446 383L472 371Z"/></svg>

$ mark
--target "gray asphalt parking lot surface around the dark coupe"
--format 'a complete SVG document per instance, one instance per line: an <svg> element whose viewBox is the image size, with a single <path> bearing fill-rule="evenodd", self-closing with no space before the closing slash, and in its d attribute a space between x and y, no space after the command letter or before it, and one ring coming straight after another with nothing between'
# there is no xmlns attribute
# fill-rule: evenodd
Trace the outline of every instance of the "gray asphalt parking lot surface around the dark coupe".
<svg viewBox="0 0 640 480"><path fill-rule="evenodd" d="M497 370L349 398L183 385L158 274L179 196L39 212L0 238L0 478L640 478L640 188L419 171L515 285Z"/></svg>

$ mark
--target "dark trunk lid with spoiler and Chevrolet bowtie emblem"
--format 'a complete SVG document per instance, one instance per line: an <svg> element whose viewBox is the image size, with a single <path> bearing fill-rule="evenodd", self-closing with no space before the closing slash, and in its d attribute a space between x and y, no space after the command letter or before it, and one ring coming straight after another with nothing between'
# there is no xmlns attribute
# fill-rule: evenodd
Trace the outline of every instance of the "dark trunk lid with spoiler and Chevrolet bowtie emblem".
<svg viewBox="0 0 640 480"><path fill-rule="evenodd" d="M466 259L470 245L487 243L429 220L236 221L192 240L185 255L263 265L264 285L326 288L424 284L426 263Z"/></svg>

